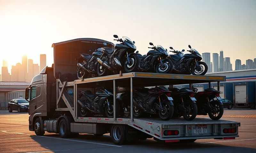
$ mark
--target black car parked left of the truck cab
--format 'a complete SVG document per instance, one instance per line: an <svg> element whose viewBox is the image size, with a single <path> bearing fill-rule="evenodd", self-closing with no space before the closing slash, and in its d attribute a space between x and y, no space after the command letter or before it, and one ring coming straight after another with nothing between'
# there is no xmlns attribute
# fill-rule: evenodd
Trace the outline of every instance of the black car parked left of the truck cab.
<svg viewBox="0 0 256 153"><path fill-rule="evenodd" d="M9 112L28 112L29 102L26 99L12 99L8 103Z"/></svg>

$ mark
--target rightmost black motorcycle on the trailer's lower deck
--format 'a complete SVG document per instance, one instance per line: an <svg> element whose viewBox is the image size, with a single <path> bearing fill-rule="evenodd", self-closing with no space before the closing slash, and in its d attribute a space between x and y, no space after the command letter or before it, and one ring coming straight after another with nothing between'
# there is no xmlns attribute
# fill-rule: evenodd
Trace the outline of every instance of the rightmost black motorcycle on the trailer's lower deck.
<svg viewBox="0 0 256 153"><path fill-rule="evenodd" d="M198 89L193 88L196 92L198 115L209 115L212 120L219 120L223 113L224 107L220 97L220 91L214 88L207 88L204 91L198 92Z"/></svg>

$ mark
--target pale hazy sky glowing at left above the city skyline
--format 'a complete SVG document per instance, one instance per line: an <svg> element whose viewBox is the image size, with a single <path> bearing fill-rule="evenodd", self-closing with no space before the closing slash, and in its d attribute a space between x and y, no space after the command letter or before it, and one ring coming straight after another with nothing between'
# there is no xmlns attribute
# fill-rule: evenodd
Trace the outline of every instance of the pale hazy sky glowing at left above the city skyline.
<svg viewBox="0 0 256 153"><path fill-rule="evenodd" d="M140 1L12 1L0 0L0 67L22 55L39 62L46 54L53 63L52 43L76 38L114 41L128 36L141 54L148 43L199 53L219 53L235 60L256 58L255 0L140 0ZM170 50L170 49L169 49ZM185 52L186 54L186 52Z"/></svg>

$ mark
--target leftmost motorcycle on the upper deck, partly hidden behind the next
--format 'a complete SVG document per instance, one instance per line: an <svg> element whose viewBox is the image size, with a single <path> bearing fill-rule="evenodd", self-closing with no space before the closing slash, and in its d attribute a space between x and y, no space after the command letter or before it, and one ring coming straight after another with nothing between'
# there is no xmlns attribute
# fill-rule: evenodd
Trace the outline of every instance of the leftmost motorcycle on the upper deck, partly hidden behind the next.
<svg viewBox="0 0 256 153"><path fill-rule="evenodd" d="M91 50L90 50L91 51ZM95 49L92 55L80 54L77 60L77 78L96 77L97 58L103 54L102 48Z"/></svg>

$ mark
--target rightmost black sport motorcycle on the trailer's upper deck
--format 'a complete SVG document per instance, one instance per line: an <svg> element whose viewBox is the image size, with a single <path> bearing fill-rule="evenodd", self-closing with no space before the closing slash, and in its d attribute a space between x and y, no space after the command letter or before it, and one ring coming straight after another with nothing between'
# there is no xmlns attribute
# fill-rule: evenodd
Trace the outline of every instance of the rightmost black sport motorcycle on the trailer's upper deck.
<svg viewBox="0 0 256 153"><path fill-rule="evenodd" d="M193 74L193 75L205 75L208 70L208 66L205 62L202 62L202 55L200 55L196 49L192 49L188 45L190 50L187 50L191 54L183 55L180 51L175 51L172 47L173 53L175 55L169 55L167 59L170 59L173 64L173 69L171 73L177 74ZM185 50L183 49L182 52Z"/></svg>

